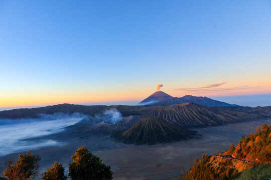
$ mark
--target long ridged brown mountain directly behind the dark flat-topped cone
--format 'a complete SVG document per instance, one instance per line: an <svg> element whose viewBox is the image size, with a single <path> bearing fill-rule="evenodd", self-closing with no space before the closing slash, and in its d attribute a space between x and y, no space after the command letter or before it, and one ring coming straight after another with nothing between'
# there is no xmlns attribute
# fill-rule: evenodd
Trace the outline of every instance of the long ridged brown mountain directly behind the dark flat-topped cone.
<svg viewBox="0 0 271 180"><path fill-rule="evenodd" d="M160 117L185 127L221 125L262 117L257 114L230 111L219 107L208 107L192 102L170 106L156 106L146 116Z"/></svg>

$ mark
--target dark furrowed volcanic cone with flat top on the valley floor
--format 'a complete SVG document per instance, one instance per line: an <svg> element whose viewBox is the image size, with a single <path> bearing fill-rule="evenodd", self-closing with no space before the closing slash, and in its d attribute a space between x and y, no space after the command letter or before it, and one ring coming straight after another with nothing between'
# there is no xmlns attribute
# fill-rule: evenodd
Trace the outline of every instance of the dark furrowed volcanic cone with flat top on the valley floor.
<svg viewBox="0 0 271 180"><path fill-rule="evenodd" d="M162 118L143 118L125 131L113 135L118 141L135 144L156 144L188 139L193 132Z"/></svg>

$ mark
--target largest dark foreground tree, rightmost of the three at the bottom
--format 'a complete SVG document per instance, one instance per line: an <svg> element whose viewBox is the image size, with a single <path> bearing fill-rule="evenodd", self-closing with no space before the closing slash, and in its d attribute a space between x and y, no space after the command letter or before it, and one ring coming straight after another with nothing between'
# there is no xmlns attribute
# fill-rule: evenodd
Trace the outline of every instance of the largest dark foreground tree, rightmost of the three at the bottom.
<svg viewBox="0 0 271 180"><path fill-rule="evenodd" d="M110 166L102 163L86 146L77 149L71 158L73 161L69 165L69 176L72 180L113 179Z"/></svg>

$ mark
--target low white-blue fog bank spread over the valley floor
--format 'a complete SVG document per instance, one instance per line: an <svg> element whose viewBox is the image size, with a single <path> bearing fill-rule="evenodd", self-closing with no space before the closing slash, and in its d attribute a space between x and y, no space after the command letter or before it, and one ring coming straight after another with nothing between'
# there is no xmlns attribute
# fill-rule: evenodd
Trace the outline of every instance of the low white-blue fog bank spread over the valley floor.
<svg viewBox="0 0 271 180"><path fill-rule="evenodd" d="M64 142L52 139L39 139L36 142L29 139L63 131L64 127L75 124L82 118L80 115L57 115L39 119L0 119L0 156L44 146L62 145Z"/></svg>

